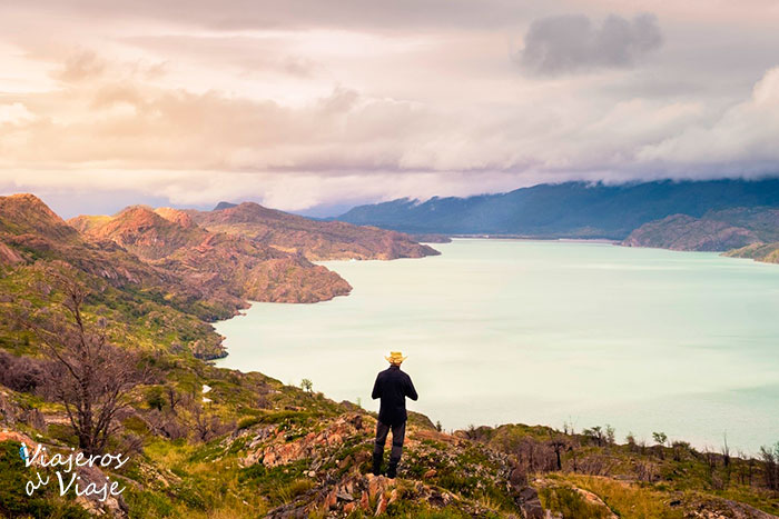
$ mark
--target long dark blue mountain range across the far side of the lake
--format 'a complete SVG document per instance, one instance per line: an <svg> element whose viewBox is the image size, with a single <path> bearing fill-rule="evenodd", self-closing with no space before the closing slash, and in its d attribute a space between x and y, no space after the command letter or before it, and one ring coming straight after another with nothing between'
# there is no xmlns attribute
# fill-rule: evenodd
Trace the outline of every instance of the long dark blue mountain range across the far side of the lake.
<svg viewBox="0 0 779 519"><path fill-rule="evenodd" d="M540 184L501 194L359 206L337 220L410 233L622 240L672 214L700 218L712 210L753 207L779 207L779 179Z"/></svg>

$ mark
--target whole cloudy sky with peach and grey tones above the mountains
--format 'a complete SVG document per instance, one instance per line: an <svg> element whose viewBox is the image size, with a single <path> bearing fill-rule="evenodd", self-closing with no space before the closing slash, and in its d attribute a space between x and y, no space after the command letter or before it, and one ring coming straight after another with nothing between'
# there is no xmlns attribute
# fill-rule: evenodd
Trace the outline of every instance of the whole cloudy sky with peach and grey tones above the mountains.
<svg viewBox="0 0 779 519"><path fill-rule="evenodd" d="M337 213L779 172L775 0L3 0L0 193Z"/></svg>

